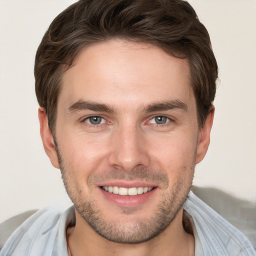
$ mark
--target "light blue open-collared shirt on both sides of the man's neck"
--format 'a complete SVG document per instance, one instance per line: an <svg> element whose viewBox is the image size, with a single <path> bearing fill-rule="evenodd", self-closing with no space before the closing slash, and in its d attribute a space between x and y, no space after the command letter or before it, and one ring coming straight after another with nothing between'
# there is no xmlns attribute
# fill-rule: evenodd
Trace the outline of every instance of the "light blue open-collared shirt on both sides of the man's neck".
<svg viewBox="0 0 256 256"><path fill-rule="evenodd" d="M193 228L195 256L255 256L249 240L191 191L184 204ZM66 228L74 207L48 207L25 220L3 245L0 256L67 256Z"/></svg>

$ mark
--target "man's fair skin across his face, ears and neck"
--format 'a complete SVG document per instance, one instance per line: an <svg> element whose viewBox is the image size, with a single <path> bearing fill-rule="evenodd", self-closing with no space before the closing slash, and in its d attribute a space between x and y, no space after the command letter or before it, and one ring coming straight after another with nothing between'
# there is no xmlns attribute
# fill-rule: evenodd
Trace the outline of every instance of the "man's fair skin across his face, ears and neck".
<svg viewBox="0 0 256 256"><path fill-rule="evenodd" d="M187 62L111 39L83 48L62 81L54 139L41 107L38 116L45 152L76 208L67 233L72 255L193 255L182 206L214 109L198 128ZM154 189L119 202L100 188L115 184Z"/></svg>

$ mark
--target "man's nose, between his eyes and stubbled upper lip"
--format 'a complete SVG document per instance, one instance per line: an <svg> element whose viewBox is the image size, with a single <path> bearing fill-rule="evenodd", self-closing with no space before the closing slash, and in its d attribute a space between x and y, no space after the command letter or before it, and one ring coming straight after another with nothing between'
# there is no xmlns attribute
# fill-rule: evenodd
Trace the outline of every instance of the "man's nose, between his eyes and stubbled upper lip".
<svg viewBox="0 0 256 256"><path fill-rule="evenodd" d="M145 134L136 126L119 128L112 136L109 165L123 171L147 167L150 162Z"/></svg>

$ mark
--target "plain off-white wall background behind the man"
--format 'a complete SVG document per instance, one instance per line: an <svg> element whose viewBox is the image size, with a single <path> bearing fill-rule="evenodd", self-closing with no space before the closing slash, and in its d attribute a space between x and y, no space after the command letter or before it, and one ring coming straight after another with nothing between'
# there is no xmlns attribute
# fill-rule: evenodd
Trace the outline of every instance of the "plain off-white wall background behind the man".
<svg viewBox="0 0 256 256"><path fill-rule="evenodd" d="M51 20L73 0L0 0L0 222L69 204L39 136L33 61ZM219 65L215 120L194 184L256 201L256 0L190 0Z"/></svg>

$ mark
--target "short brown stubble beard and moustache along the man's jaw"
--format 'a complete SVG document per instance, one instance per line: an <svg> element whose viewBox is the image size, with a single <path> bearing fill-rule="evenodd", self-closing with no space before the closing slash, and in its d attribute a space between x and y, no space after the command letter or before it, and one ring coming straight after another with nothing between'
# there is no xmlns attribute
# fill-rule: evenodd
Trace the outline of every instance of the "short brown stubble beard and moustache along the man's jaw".
<svg viewBox="0 0 256 256"><path fill-rule="evenodd" d="M110 176L126 176L126 179L130 180L135 178L145 180L148 179L148 173L151 173L151 177L156 178L158 176L158 181L161 180L163 182L162 187L165 186L166 188L162 192L162 199L155 207L155 210L151 213L150 218L136 220L132 223L118 221L117 219L110 222L104 218L103 212L101 212L96 206L95 201L93 199L87 199L86 197L88 197L88 195L82 194L82 190L76 188L77 186L73 179L74 175L72 175L72 170L63 162L56 144L55 147L58 155L62 180L66 192L72 200L75 209L95 232L109 241L135 244L150 240L163 232L182 208L192 185L195 164L191 164L192 166L190 167L183 166L180 170L183 174L171 188L168 187L167 175L159 171L151 169L134 169L132 174L120 174L120 170L113 169L108 173L108 175L106 175L107 178ZM147 176L146 178L145 175ZM187 175L189 177L187 177ZM91 182L93 178L97 177L98 176L92 177L88 182ZM101 176L101 178L103 177ZM154 180L151 178L151 181ZM125 214L125 211L123 211L123 213Z"/></svg>

